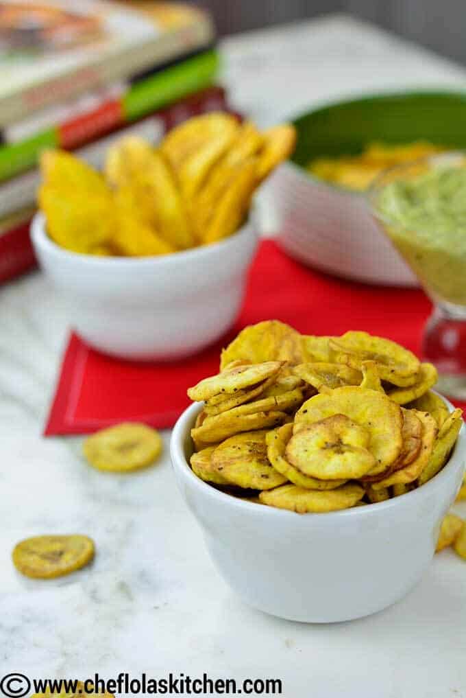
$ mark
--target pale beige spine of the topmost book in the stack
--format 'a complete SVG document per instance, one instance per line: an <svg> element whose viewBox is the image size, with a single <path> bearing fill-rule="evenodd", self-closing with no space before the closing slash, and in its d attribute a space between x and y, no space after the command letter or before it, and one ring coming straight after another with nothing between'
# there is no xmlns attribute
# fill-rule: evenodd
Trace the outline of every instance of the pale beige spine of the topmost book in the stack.
<svg viewBox="0 0 466 698"><path fill-rule="evenodd" d="M214 36L215 29L209 15L196 13L191 22L167 31L155 40L151 38L142 42L136 49L132 47L105 59L96 58L92 64L3 98L0 101L0 128L20 121L24 114L30 114L84 91L102 87L109 82L127 79L134 73L175 58L180 53L208 45L212 43Z"/></svg>

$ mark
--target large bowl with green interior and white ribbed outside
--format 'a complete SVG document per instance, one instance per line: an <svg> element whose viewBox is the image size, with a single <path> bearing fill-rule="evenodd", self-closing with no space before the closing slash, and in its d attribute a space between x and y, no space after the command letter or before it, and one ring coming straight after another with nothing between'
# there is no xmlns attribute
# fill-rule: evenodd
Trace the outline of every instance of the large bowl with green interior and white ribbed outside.
<svg viewBox="0 0 466 698"><path fill-rule="evenodd" d="M304 168L320 156L357 154L373 140L428 140L466 149L466 91L364 96L302 114L294 124L295 154L270 181L279 244L307 265L338 276L417 285L373 219L365 195L328 184Z"/></svg>

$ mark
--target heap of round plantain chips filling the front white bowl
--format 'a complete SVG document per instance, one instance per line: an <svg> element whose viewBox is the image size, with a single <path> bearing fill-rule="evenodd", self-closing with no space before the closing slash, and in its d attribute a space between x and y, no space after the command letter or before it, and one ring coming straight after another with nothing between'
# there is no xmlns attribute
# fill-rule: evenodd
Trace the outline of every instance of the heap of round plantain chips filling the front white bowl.
<svg viewBox="0 0 466 698"><path fill-rule="evenodd" d="M383 337L258 322L224 348L217 375L188 389L203 403L192 470L300 514L407 495L444 467L463 424L433 392L436 378L432 364ZM459 536L451 544L463 551Z"/></svg>

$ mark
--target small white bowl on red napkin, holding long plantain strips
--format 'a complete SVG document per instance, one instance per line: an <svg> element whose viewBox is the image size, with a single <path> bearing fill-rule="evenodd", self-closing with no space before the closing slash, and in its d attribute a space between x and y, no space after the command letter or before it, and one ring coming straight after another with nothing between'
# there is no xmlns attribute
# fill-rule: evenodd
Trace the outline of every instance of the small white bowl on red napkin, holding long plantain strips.
<svg viewBox="0 0 466 698"><path fill-rule="evenodd" d="M69 252L49 238L42 214L31 238L86 342L125 359L170 360L194 354L233 325L257 244L253 218L222 242L160 257Z"/></svg>

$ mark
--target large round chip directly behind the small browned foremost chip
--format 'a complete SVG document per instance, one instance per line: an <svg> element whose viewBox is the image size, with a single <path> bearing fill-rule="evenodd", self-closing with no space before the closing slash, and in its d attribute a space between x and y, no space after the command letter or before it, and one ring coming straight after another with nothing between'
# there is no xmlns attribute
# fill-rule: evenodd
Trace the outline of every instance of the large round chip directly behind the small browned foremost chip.
<svg viewBox="0 0 466 698"><path fill-rule="evenodd" d="M377 463L369 475L383 473L398 459L403 446L403 415L401 407L386 395L355 386L335 388L329 395L320 393L297 411L294 431L297 433L309 424L334 415L345 415L368 429L371 435L368 449Z"/></svg>

